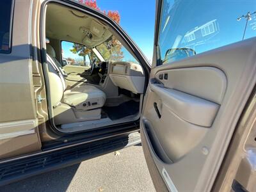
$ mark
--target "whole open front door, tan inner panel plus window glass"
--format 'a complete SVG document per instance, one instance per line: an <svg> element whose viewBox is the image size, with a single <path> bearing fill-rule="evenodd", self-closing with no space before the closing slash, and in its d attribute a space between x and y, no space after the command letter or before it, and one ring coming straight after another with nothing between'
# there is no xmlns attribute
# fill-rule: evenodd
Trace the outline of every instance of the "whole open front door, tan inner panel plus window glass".
<svg viewBox="0 0 256 192"><path fill-rule="evenodd" d="M246 15L255 11L252 1L157 1L140 122L157 191L212 189L255 86L254 17Z"/></svg>

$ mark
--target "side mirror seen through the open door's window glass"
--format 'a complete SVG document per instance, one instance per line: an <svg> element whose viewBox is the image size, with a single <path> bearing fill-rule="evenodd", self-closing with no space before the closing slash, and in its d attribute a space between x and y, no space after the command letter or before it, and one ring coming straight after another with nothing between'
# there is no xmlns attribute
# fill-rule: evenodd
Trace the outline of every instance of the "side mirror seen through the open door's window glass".
<svg viewBox="0 0 256 192"><path fill-rule="evenodd" d="M172 48L166 51L163 62L181 60L195 54L195 50L191 48Z"/></svg>

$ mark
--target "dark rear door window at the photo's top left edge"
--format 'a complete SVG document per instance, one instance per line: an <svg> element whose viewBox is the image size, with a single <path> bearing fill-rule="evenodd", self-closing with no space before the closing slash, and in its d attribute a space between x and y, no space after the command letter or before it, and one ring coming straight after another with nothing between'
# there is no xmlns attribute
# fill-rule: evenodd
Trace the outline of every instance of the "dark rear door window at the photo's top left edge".
<svg viewBox="0 0 256 192"><path fill-rule="evenodd" d="M11 52L13 1L0 1L0 53Z"/></svg>

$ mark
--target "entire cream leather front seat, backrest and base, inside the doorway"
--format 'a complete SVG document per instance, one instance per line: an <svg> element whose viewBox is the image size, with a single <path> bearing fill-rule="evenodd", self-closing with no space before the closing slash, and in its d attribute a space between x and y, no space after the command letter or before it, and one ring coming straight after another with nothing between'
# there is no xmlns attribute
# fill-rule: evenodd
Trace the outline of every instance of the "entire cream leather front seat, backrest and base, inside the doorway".
<svg viewBox="0 0 256 192"><path fill-rule="evenodd" d="M47 67L56 125L100 119L100 108L104 106L106 94L91 85L67 88L65 71L49 44L47 44Z"/></svg>

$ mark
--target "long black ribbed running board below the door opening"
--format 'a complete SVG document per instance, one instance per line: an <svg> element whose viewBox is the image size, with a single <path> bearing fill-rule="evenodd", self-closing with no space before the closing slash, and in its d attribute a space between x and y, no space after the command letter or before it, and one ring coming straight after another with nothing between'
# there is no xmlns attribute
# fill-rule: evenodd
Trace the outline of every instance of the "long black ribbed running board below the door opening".
<svg viewBox="0 0 256 192"><path fill-rule="evenodd" d="M0 164L0 186L80 163L86 159L101 156L140 143L140 134L133 132L101 141L93 141L76 147L38 154Z"/></svg>

